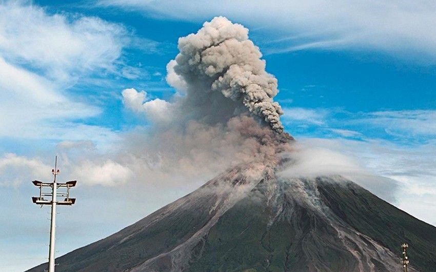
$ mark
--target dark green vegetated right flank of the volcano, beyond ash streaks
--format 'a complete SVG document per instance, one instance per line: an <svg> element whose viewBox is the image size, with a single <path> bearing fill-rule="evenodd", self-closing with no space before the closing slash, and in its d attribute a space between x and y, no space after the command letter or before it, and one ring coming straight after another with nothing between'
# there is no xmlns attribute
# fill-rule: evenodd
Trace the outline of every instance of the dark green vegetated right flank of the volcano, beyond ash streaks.
<svg viewBox="0 0 436 272"><path fill-rule="evenodd" d="M408 243L410 265L422 272L436 271L436 227L348 182L343 186L318 179L325 203L351 227L398 253Z"/></svg>

